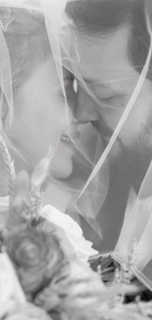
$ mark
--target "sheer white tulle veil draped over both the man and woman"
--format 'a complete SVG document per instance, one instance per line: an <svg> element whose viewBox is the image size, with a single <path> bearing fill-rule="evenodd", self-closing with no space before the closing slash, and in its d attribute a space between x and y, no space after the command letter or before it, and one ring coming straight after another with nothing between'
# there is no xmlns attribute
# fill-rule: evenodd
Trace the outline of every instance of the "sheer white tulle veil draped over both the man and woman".
<svg viewBox="0 0 152 320"><path fill-rule="evenodd" d="M7 14L9 14L11 7L15 7L34 12L34 14L41 13L44 16L51 54L55 62L62 90L67 127L70 103L68 101L63 68L74 76L76 94L78 85L99 107L113 107L111 103L106 106L101 104L100 99L91 91L81 74L79 68L81 56L77 45L78 34L75 32L75 28L71 28L71 23L64 13L67 2L73 1L81 0L0 1L0 10L2 10L2 7L8 7ZM95 2L94 0L92 1ZM152 164L150 164L137 194L128 183L125 183L127 177L123 174L123 171L120 175L118 174L119 170L116 170L111 160L111 153L117 146L119 133L123 130L125 122L134 108L151 61L152 10L150 1L147 1L145 13L150 35L149 53L142 72L135 83L132 95L126 103L124 112L118 118L109 141L107 142L107 140L105 141L101 138L98 128L92 126L89 123L89 119L87 124L78 124L80 136L77 140L73 139L70 131L67 129L66 133L70 138L68 148L72 152L73 170L70 176L65 179L51 177L51 188L48 186L46 190L47 200L44 198L44 202L47 202L48 197L50 197L49 201L52 205L56 206L57 209L66 211L80 223L86 238L94 243L94 247L101 254L112 253L113 257L120 263L127 260L128 254L132 250L133 240L136 239L139 258L133 271L152 290ZM0 22L0 110L2 114L3 99L6 99L11 126L15 106L13 106L13 85L9 50L5 41L5 33L3 32L9 24L11 24L11 19L7 21L6 25L3 24L2 20ZM125 73L123 78L126 78ZM115 80L118 81L118 79L114 79L113 81ZM121 79L119 80L121 81ZM75 109L76 107L77 105L75 104ZM73 113L75 113L75 110ZM17 150L17 146L14 145L11 137L5 134L2 116L0 130L9 149L13 150L13 154L16 154L17 159L21 161L21 167L28 167L29 171L31 171L32 164L28 162L26 157L22 156L20 150ZM63 198L66 201L63 201ZM1 203L4 207L5 201L1 199Z"/></svg>

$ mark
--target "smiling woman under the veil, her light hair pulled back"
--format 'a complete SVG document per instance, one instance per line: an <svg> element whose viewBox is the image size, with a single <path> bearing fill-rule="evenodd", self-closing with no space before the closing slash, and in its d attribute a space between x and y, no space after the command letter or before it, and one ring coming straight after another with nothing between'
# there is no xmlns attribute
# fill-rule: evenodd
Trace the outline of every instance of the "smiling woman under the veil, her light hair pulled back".
<svg viewBox="0 0 152 320"><path fill-rule="evenodd" d="M68 136L75 139L79 135L73 122L71 74L63 69L63 89L40 11L0 3L0 24L0 131L16 170L32 172L52 147L51 175L67 178L72 172L72 151L66 142ZM0 196L6 196L2 160L0 177Z"/></svg>

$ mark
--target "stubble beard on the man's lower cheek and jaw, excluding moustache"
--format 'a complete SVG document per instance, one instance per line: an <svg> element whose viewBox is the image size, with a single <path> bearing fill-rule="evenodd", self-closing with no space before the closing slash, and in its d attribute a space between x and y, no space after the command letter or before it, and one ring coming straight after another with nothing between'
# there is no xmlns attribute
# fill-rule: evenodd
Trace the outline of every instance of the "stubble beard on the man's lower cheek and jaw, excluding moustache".
<svg viewBox="0 0 152 320"><path fill-rule="evenodd" d="M144 133L141 133L127 147L118 137L108 155L110 166L116 170L116 175L123 175L124 183L132 185L136 192L139 191L152 160L152 144L147 145L144 137ZM105 147L106 145L104 144Z"/></svg>

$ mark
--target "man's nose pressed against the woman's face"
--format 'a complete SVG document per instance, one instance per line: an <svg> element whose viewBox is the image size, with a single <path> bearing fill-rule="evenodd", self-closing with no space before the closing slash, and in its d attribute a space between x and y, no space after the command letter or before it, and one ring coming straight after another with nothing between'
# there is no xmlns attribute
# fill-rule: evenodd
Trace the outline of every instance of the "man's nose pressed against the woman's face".
<svg viewBox="0 0 152 320"><path fill-rule="evenodd" d="M75 106L75 117L78 121L88 122L99 120L100 114L97 107L97 103L89 93L85 92L83 88L78 86Z"/></svg>

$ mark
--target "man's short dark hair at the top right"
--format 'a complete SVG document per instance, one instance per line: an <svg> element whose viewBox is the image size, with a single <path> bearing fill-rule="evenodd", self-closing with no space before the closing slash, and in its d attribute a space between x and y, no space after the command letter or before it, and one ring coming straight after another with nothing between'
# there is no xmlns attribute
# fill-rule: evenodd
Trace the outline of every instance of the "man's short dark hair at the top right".
<svg viewBox="0 0 152 320"><path fill-rule="evenodd" d="M68 2L66 15L72 28L94 39L126 26L130 32L129 61L140 73L150 48L145 3L146 0L74 0ZM152 62L147 77L152 80Z"/></svg>

